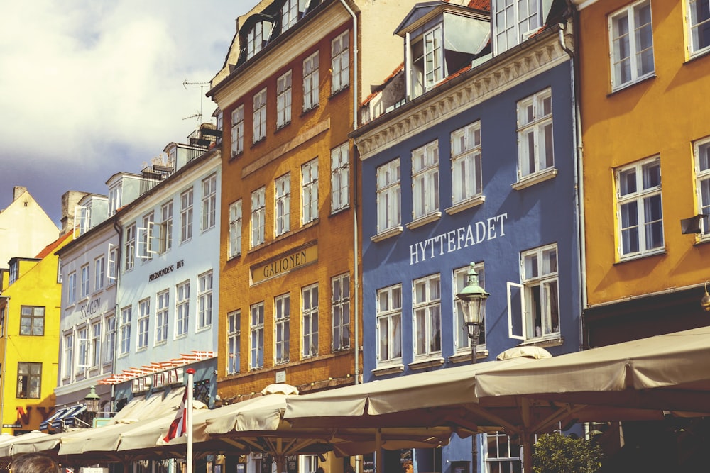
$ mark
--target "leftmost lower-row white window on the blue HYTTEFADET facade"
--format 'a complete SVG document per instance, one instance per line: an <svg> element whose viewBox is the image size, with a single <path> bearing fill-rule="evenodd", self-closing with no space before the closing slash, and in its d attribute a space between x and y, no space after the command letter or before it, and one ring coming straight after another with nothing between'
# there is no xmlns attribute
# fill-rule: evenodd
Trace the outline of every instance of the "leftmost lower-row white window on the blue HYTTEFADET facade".
<svg viewBox="0 0 710 473"><path fill-rule="evenodd" d="M402 286L377 291L377 362L402 359Z"/></svg>

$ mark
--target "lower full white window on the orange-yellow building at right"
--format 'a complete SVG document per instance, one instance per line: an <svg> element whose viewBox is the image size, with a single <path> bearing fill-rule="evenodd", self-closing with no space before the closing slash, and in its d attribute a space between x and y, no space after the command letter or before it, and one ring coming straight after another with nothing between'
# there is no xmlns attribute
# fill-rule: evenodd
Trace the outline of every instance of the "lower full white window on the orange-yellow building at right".
<svg viewBox="0 0 710 473"><path fill-rule="evenodd" d="M616 169L619 257L663 248L660 157Z"/></svg>

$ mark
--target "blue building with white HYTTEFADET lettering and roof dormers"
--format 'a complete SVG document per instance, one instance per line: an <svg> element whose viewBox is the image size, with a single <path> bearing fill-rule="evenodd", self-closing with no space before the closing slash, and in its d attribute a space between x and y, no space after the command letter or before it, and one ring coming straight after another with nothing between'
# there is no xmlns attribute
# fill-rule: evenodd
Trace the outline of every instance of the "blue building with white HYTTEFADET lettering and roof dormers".
<svg viewBox="0 0 710 473"><path fill-rule="evenodd" d="M471 362L455 296L470 262L491 294L478 360L520 345L579 350L567 21L532 2L525 21L506 26L505 11L492 6L488 16L475 3L413 8L395 32L403 67L364 111L387 113L353 133L371 216L361 228L364 382ZM478 435L476 447L474 471L518 471L519 449L505 435ZM454 438L412 460L416 472L470 471L472 450ZM398 461L386 459L386 471Z"/></svg>

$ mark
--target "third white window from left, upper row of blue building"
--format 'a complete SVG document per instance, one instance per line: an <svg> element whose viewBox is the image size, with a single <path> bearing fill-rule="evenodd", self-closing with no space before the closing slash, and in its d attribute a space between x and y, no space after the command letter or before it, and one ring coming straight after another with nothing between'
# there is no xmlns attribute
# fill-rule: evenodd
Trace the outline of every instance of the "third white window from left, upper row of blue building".
<svg viewBox="0 0 710 473"><path fill-rule="evenodd" d="M461 204L483 192L480 121L452 131L451 175L452 204Z"/></svg>

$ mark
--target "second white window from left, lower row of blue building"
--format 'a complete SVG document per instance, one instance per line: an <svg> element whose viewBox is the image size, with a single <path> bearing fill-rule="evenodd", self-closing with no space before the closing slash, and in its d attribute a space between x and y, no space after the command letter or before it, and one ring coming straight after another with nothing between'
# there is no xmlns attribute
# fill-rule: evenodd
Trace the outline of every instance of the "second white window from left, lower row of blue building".
<svg viewBox="0 0 710 473"><path fill-rule="evenodd" d="M440 285L439 274L415 279L412 284L415 357L442 350Z"/></svg>

